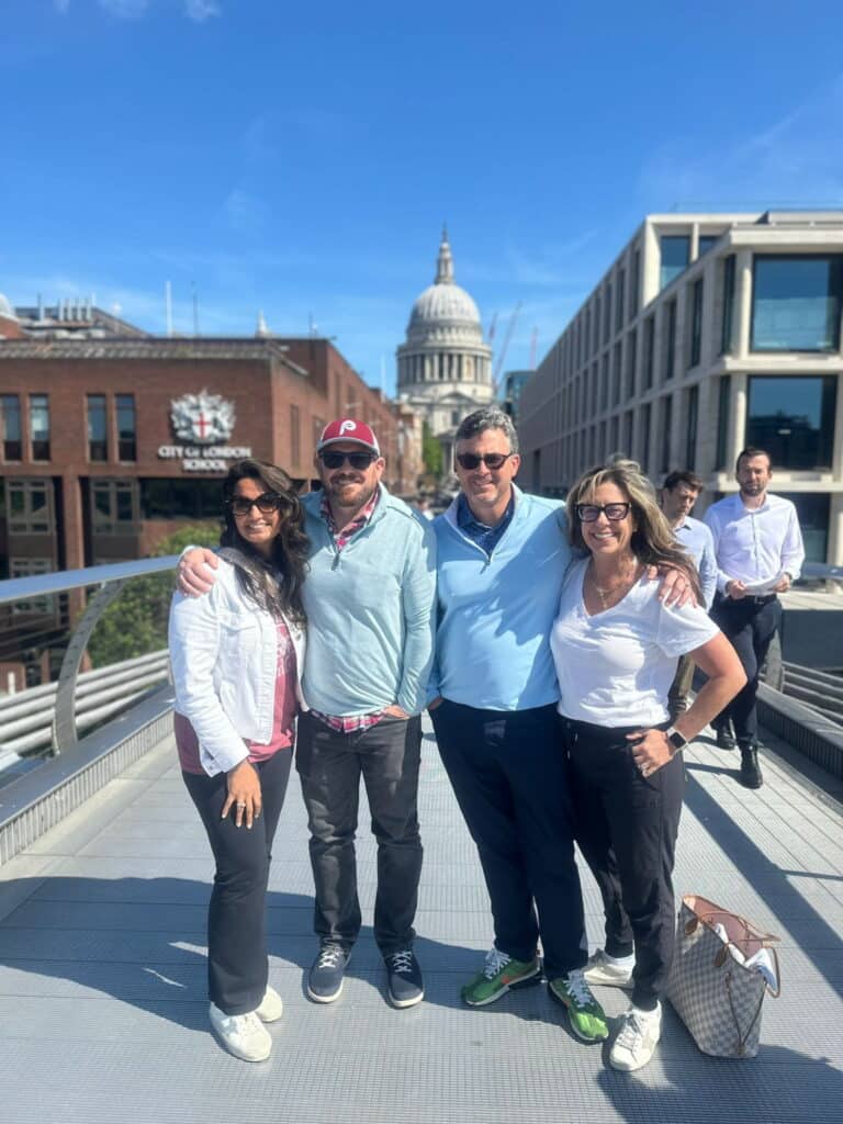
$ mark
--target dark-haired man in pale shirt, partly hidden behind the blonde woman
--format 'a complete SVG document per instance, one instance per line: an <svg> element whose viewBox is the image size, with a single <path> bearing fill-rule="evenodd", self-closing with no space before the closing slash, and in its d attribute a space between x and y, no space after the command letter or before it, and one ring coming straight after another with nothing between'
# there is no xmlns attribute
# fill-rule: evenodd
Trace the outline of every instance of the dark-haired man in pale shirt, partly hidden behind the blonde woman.
<svg viewBox="0 0 843 1124"><path fill-rule="evenodd" d="M703 491L703 481L694 472L671 472L662 484L662 511L673 528L677 543L691 558L699 573L703 599L710 609L717 591L717 559L711 532L690 513ZM694 680L694 660L680 656L677 674L668 692L671 720L688 709L688 692Z"/></svg>

